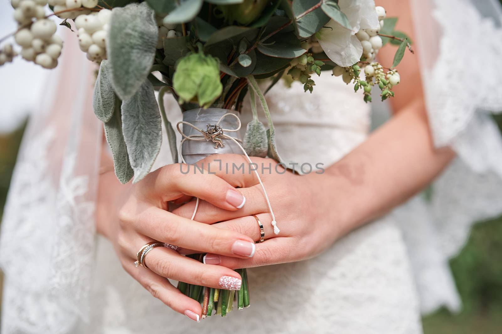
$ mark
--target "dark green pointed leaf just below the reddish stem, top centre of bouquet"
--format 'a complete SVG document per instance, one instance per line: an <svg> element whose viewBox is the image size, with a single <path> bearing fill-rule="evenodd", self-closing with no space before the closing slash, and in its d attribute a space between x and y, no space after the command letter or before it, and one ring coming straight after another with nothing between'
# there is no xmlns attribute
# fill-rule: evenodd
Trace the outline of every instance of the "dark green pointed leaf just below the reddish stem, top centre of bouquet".
<svg viewBox="0 0 502 334"><path fill-rule="evenodd" d="M272 36L266 43L259 44L258 50L265 55L278 58L296 58L307 52L293 32Z"/></svg>

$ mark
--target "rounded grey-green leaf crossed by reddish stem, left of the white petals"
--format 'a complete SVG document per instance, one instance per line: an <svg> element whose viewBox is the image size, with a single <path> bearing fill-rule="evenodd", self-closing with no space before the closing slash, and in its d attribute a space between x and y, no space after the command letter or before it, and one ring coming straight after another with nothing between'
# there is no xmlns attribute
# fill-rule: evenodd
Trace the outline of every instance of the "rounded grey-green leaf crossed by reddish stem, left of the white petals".
<svg viewBox="0 0 502 334"><path fill-rule="evenodd" d="M319 0L293 1L292 9L295 16L295 26L298 32L298 36L303 38L310 37L329 22L329 16L327 16L320 7L316 8L303 17L296 19L299 15L305 13L308 9L314 7L317 4L319 4Z"/></svg>

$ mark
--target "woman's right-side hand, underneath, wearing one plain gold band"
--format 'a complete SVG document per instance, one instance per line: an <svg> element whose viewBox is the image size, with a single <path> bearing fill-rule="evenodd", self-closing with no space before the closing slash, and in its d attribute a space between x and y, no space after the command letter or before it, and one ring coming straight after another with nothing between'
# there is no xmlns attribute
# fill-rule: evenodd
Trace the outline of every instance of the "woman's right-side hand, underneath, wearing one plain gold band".
<svg viewBox="0 0 502 334"><path fill-rule="evenodd" d="M299 176L285 171L273 159L252 157L252 160L256 163L252 168L258 168L281 231L279 235L274 234L264 193L245 157L236 154L211 155L197 164L232 186L240 187L246 203L238 211L228 211L201 201L194 219L206 224L219 222L214 226L258 241L260 229L252 216L256 215L264 226L266 241L256 245L253 258L235 258L211 252L205 256L204 263L246 268L293 262L311 258L331 245L340 235L338 226L334 224L336 218L332 202L336 195L332 176L316 174L315 171ZM200 173L198 170L195 172ZM195 203L189 202L173 213L190 218L194 207Z"/></svg>

